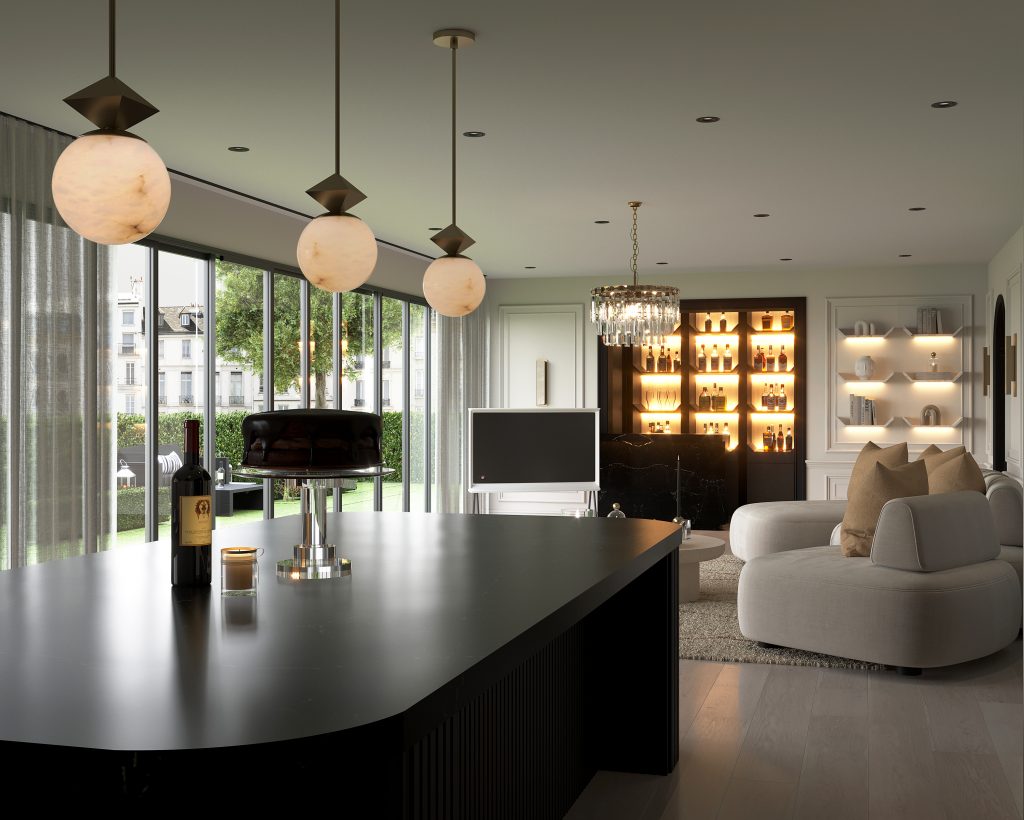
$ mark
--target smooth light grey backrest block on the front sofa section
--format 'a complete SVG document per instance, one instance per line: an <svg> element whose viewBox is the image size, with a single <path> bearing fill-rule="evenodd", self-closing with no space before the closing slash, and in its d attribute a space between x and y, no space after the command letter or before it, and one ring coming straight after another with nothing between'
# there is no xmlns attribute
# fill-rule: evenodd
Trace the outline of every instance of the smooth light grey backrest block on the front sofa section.
<svg viewBox="0 0 1024 820"><path fill-rule="evenodd" d="M871 563L937 572L999 556L988 501L980 492L894 499L879 515Z"/></svg>

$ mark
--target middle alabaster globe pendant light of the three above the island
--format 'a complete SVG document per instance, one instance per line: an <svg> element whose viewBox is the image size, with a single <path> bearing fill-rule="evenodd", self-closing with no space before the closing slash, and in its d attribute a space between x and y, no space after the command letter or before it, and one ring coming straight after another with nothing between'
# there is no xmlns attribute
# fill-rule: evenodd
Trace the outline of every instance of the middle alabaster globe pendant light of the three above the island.
<svg viewBox="0 0 1024 820"><path fill-rule="evenodd" d="M334 0L334 173L306 191L327 209L299 236L299 269L311 285L332 293L358 288L377 264L377 239L348 213L367 196L341 175L341 0Z"/></svg>

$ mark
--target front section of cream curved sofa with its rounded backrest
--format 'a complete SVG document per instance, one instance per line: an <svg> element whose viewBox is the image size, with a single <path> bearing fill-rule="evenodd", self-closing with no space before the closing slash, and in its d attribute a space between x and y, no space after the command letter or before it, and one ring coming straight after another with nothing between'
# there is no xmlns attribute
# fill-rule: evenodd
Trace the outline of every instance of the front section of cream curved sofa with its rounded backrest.
<svg viewBox="0 0 1024 820"><path fill-rule="evenodd" d="M765 644L901 667L961 663L1017 638L1021 585L978 492L896 499L870 558L838 547L764 555L739 575L739 630Z"/></svg>

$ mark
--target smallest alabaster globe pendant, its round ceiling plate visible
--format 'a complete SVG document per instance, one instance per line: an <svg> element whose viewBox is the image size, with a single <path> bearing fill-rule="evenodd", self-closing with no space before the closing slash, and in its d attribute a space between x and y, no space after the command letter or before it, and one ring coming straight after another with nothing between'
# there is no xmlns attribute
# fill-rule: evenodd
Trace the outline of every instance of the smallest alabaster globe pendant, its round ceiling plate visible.
<svg viewBox="0 0 1024 820"><path fill-rule="evenodd" d="M434 45L452 51L452 224L430 238L444 256L430 263L423 274L423 295L429 305L444 316L465 316L483 301L486 280L483 271L462 252L473 240L460 228L456 217L456 54L460 48L472 45L473 32L465 29L443 29L434 32Z"/></svg>

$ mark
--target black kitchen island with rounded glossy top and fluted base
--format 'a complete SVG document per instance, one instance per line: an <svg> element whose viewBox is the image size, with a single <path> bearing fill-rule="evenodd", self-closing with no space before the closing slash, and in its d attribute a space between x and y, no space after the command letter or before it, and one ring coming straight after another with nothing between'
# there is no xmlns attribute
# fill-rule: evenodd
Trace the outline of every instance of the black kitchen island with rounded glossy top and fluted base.
<svg viewBox="0 0 1024 820"><path fill-rule="evenodd" d="M344 513L352 574L254 599L145 545L0 573L0 742L23 793L294 794L348 816L560 817L678 757L678 527ZM216 550L215 550L216 552ZM364 814L351 814L361 811Z"/></svg>

